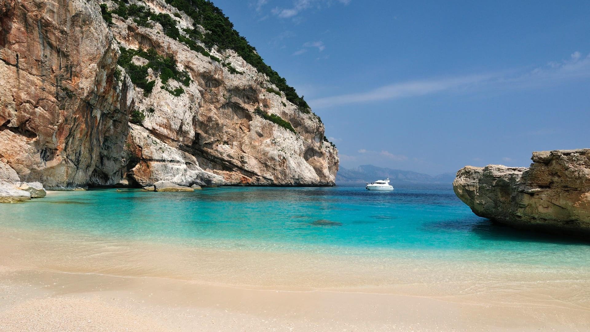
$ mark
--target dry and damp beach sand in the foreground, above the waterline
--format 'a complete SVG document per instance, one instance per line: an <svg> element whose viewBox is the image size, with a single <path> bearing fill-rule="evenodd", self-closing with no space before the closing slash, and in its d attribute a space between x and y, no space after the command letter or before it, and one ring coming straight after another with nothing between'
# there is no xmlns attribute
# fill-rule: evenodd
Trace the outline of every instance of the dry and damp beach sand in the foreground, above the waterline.
<svg viewBox="0 0 590 332"><path fill-rule="evenodd" d="M28 285L27 285L28 284ZM588 310L487 305L428 297L273 291L96 275L21 271L5 292L0 328L80 330L578 330ZM15 294L17 293L17 294ZM44 312L50 308L51 312ZM509 309L509 310L507 310Z"/></svg>

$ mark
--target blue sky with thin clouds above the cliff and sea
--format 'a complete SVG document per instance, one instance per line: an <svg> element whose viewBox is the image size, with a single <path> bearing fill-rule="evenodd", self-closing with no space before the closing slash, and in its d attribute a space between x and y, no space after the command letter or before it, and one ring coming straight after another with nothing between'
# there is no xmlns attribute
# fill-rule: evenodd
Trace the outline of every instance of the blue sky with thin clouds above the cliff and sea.
<svg viewBox="0 0 590 332"><path fill-rule="evenodd" d="M590 148L590 1L213 2L343 167L436 175Z"/></svg>

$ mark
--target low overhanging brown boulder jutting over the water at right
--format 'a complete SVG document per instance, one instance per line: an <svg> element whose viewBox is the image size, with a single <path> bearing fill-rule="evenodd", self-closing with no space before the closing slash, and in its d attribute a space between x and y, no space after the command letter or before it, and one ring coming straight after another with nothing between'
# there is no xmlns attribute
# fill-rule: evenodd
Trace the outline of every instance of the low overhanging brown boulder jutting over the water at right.
<svg viewBox="0 0 590 332"><path fill-rule="evenodd" d="M529 168L467 166L457 197L481 217L590 239L590 149L533 152Z"/></svg>

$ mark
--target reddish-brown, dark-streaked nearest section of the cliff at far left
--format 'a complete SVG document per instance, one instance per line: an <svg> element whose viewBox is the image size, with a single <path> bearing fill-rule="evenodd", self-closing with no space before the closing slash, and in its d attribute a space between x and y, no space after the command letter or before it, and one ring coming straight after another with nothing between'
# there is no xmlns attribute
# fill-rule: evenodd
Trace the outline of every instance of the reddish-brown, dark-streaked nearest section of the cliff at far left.
<svg viewBox="0 0 590 332"><path fill-rule="evenodd" d="M127 135L130 81L98 4L0 1L0 158L23 181L87 185Z"/></svg>

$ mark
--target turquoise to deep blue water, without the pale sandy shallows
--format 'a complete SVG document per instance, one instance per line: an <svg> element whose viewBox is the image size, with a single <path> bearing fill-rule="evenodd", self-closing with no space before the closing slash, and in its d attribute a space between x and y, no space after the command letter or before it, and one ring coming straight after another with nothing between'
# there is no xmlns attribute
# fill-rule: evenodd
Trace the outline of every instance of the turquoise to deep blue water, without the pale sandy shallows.
<svg viewBox="0 0 590 332"><path fill-rule="evenodd" d="M226 249L589 266L590 246L475 216L451 185L90 190L0 204L0 226Z"/></svg>

